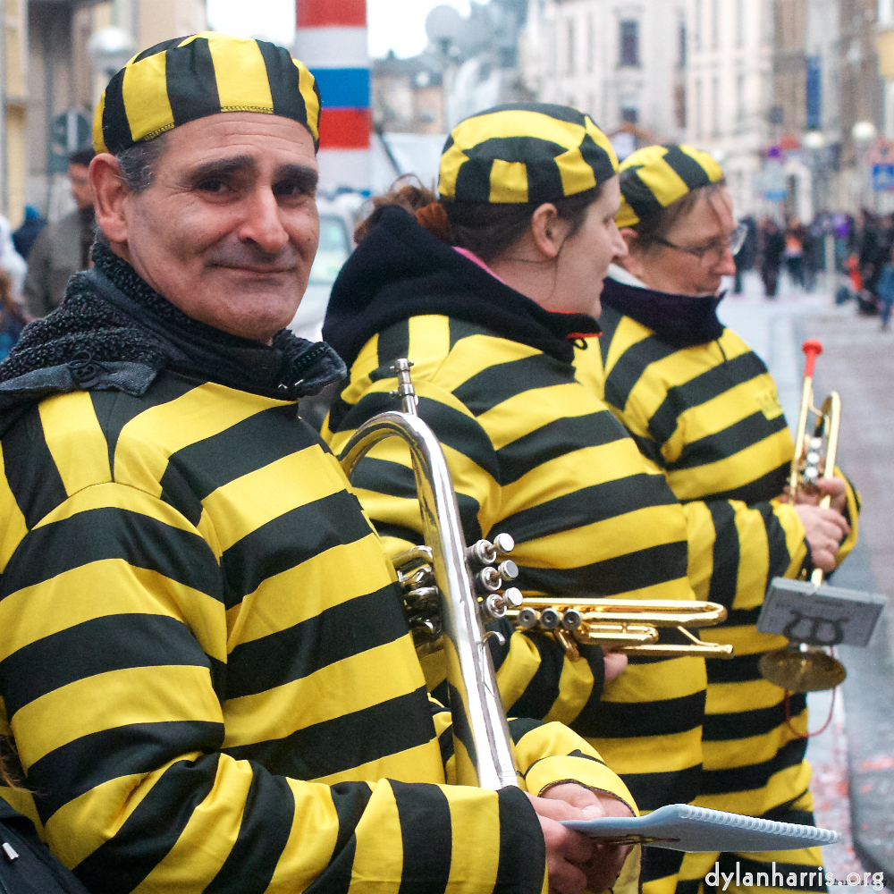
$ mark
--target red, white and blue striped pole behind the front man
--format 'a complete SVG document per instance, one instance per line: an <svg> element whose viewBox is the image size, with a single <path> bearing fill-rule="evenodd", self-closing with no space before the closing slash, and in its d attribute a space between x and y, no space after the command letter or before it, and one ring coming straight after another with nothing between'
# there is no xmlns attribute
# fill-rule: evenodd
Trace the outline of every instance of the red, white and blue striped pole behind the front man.
<svg viewBox="0 0 894 894"><path fill-rule="evenodd" d="M297 0L295 57L323 96L320 186L372 186L367 0Z"/></svg>

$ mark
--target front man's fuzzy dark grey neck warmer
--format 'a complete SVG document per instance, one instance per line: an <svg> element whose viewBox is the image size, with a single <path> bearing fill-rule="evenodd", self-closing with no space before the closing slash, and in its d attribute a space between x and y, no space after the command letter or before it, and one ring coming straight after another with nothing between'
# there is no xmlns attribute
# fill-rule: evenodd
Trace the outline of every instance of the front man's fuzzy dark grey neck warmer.
<svg viewBox="0 0 894 894"><path fill-rule="evenodd" d="M0 363L0 406L75 389L139 396L162 369L281 401L316 394L344 377L325 342L283 329L273 345L198 322L153 291L103 245L69 280L62 305L28 325Z"/></svg>

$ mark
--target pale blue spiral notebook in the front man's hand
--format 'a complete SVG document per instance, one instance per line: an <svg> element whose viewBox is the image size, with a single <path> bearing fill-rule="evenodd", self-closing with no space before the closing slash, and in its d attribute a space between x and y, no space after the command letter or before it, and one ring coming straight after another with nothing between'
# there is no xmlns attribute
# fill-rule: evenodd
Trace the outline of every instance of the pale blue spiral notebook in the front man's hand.
<svg viewBox="0 0 894 894"><path fill-rule="evenodd" d="M798 850L838 844L841 840L839 833L831 829L760 820L687 804L659 807L645 816L600 816L593 820L564 820L562 825L594 839L605 839L606 844L643 844L687 853Z"/></svg>

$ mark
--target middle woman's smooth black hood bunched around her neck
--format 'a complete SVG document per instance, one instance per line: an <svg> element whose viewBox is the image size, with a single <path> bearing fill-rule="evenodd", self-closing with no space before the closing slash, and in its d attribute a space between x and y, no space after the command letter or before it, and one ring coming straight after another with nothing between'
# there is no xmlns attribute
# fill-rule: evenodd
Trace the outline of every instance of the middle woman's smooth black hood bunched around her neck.
<svg viewBox="0 0 894 894"><path fill-rule="evenodd" d="M381 207L333 286L323 337L350 366L375 333L429 314L483 326L566 363L592 316L551 313L436 239L399 207Z"/></svg>

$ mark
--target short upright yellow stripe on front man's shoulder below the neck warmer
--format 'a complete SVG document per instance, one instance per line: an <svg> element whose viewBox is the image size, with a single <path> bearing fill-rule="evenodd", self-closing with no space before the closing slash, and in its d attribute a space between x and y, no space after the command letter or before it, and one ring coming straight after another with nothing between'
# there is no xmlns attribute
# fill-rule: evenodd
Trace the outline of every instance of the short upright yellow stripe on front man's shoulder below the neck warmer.
<svg viewBox="0 0 894 894"><path fill-rule="evenodd" d="M89 392L55 394L40 401L38 412L65 493L112 480L108 443Z"/></svg>

